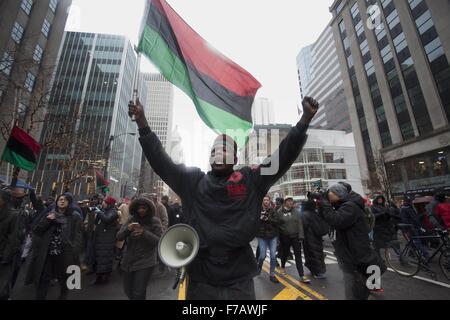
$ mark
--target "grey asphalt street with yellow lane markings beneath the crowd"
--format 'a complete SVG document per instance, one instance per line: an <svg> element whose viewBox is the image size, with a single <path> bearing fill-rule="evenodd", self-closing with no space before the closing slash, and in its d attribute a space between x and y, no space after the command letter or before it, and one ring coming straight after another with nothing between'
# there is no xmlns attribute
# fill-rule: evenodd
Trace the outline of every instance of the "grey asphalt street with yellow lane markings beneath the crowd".
<svg viewBox="0 0 450 320"><path fill-rule="evenodd" d="M326 241L328 244L329 241ZM277 278L280 284L269 281L269 265L266 262L263 273L255 278L257 300L344 300L342 273L332 254L332 248L327 246L326 264L327 279L312 279L310 285L300 283L295 264L290 261L286 268L288 275L281 275L277 268ZM307 273L308 274L308 273ZM23 277L23 271L22 275ZM21 278L22 278L21 277ZM450 282L445 282L438 274L438 281L431 280L426 274L420 273L415 278L404 278L392 271L387 271L382 278L382 294L372 295L370 300L448 300L450 297ZM14 291L15 300L32 300L34 288L20 286L21 278ZM147 291L148 300L184 300L183 287L172 290L175 272L156 274L152 277ZM119 271L115 271L111 282L106 285L90 286L95 280L93 275L83 276L82 290L71 292L70 300L126 300L123 292ZM23 283L23 280L22 280ZM59 293L57 286L50 290L49 299L56 299Z"/></svg>

